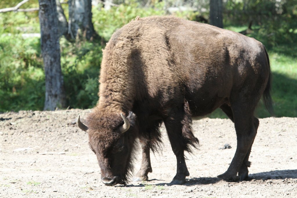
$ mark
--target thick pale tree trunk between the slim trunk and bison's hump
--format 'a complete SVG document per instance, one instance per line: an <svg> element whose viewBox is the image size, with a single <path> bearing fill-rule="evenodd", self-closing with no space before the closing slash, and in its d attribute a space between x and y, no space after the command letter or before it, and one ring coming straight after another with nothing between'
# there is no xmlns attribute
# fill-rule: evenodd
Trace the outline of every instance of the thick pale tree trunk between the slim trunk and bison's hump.
<svg viewBox="0 0 297 198"><path fill-rule="evenodd" d="M92 23L91 0L69 0L68 33L72 39L77 36L92 40L97 36Z"/></svg>

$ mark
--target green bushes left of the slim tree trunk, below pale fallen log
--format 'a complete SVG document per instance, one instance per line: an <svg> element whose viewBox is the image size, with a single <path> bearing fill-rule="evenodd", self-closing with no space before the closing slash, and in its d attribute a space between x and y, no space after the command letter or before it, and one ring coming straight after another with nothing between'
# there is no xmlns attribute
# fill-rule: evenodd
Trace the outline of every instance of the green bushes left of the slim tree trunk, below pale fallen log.
<svg viewBox="0 0 297 198"><path fill-rule="evenodd" d="M40 109L44 72L40 39L0 34L0 111Z"/></svg>

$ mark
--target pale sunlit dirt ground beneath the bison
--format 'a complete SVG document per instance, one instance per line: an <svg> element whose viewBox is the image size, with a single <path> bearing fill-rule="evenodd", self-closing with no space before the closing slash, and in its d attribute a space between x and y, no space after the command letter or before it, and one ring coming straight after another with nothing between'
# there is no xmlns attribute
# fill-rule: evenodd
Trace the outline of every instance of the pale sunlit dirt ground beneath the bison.
<svg viewBox="0 0 297 198"><path fill-rule="evenodd" d="M166 132L163 150L151 154L149 181L105 186L87 133L75 120L91 110L20 111L0 114L0 197L296 197L297 118L260 119L252 147L249 181L225 182L236 150L233 123L227 119L193 121L200 141L187 155L185 185L169 186L176 158ZM230 144L230 149L220 149ZM140 153L135 172L140 168Z"/></svg>

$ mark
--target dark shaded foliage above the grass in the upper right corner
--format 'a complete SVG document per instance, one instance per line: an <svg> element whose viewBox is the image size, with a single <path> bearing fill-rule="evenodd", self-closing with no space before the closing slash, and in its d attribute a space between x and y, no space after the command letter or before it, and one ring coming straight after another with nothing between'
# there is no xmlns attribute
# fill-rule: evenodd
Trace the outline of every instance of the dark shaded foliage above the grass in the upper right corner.
<svg viewBox="0 0 297 198"><path fill-rule="evenodd" d="M296 0L230 0L225 5L225 24L248 25L250 37L260 40L269 50L290 53L297 42ZM285 47L282 47L285 44ZM281 46L279 48L279 46ZM290 50L287 50L290 48ZM294 48L296 50L296 48ZM290 55L294 54L291 52ZM296 53L295 53L296 57Z"/></svg>

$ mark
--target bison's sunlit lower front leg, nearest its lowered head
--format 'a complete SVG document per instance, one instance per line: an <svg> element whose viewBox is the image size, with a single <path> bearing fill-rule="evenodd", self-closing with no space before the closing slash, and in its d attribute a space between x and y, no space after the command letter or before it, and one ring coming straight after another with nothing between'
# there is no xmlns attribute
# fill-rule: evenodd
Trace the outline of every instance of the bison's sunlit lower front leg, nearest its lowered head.
<svg viewBox="0 0 297 198"><path fill-rule="evenodd" d="M146 181L149 179L148 173L152 172L149 145L148 143L142 143L141 147L142 147L141 166L140 166L140 170L133 178L133 181Z"/></svg>

